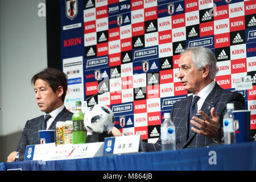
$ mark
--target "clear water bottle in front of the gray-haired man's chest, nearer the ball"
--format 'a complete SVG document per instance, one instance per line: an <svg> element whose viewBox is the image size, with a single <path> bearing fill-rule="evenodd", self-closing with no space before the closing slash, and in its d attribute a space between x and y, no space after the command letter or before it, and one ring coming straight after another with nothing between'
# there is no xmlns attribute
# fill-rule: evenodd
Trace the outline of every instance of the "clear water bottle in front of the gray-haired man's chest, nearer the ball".
<svg viewBox="0 0 256 182"><path fill-rule="evenodd" d="M164 122L161 125L162 150L176 150L175 126L171 121L171 114L164 113Z"/></svg>

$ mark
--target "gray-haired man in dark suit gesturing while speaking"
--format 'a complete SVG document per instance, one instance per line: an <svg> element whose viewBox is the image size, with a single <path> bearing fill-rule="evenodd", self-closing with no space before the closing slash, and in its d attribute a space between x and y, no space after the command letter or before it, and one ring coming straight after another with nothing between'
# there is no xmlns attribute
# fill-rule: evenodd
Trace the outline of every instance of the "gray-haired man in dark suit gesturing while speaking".
<svg viewBox="0 0 256 182"><path fill-rule="evenodd" d="M222 119L226 104L234 103L236 110L246 108L242 94L222 89L214 81L218 72L216 63L216 57L208 48L191 47L181 53L177 77L180 78L184 89L192 95L176 102L171 110L177 149L203 147L221 142ZM194 97L198 98L196 103L198 117L192 115L190 111ZM218 128L219 122L220 128ZM115 130L113 135L122 134L119 130ZM159 151L161 139L159 138L155 144L143 142L143 146L146 151Z"/></svg>

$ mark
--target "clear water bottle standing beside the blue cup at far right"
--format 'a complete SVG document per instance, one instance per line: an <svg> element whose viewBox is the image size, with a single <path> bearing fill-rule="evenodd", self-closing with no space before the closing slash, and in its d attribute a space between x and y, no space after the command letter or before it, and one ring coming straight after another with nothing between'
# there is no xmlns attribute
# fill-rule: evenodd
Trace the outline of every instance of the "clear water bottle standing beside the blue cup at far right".
<svg viewBox="0 0 256 182"><path fill-rule="evenodd" d="M236 143L236 133L234 130L234 104L226 104L226 113L223 117L223 131L224 131L224 142L225 144Z"/></svg>

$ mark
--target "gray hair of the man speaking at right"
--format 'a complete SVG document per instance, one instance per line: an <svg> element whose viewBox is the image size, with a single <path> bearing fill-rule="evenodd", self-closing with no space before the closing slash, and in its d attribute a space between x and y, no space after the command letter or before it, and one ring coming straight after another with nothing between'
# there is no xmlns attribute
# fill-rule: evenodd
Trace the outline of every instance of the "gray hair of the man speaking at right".
<svg viewBox="0 0 256 182"><path fill-rule="evenodd" d="M192 61L196 69L202 70L206 65L209 65L209 77L214 79L218 73L218 67L216 65L217 59L213 52L205 47L188 47L181 52L181 56L188 52L192 52Z"/></svg>

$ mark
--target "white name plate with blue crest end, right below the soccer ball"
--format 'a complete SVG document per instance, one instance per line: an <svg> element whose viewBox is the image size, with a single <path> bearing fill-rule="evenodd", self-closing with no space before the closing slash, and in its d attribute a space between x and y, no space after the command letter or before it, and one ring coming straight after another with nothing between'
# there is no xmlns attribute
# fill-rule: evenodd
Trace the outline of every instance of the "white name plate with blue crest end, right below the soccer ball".
<svg viewBox="0 0 256 182"><path fill-rule="evenodd" d="M104 155L127 154L139 152L141 135L108 137L104 140Z"/></svg>

